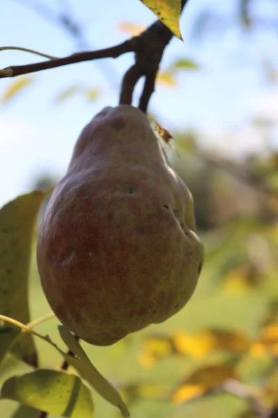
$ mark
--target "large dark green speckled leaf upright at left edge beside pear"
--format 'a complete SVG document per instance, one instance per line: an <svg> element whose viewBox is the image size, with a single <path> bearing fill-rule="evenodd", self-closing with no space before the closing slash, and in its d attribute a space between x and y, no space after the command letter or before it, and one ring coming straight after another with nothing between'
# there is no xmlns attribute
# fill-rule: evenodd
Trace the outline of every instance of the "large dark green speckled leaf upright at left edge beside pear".
<svg viewBox="0 0 278 418"><path fill-rule="evenodd" d="M0 314L22 323L30 320L28 308L28 273L33 228L43 192L31 192L10 201L0 210ZM0 321L0 362L20 331ZM37 354L32 336L22 336L13 353L32 366Z"/></svg>

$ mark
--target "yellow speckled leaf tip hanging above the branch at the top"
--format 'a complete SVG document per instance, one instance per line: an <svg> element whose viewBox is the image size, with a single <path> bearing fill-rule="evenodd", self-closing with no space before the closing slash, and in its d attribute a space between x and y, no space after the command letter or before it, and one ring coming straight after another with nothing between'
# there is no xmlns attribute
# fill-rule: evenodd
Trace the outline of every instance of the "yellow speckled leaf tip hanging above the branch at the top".
<svg viewBox="0 0 278 418"><path fill-rule="evenodd" d="M179 39L179 17L181 15L181 0L141 0L159 20L167 26Z"/></svg>

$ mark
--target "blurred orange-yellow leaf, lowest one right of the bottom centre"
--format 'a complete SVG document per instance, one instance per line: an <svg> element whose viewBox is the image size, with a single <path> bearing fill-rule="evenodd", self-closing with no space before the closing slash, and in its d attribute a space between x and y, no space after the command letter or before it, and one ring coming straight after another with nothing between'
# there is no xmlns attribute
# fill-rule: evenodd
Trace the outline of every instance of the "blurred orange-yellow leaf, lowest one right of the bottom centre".
<svg viewBox="0 0 278 418"><path fill-rule="evenodd" d="M204 366L193 372L188 379L179 385L172 395L174 403L190 401L215 389L226 380L235 378L234 367L227 364Z"/></svg>

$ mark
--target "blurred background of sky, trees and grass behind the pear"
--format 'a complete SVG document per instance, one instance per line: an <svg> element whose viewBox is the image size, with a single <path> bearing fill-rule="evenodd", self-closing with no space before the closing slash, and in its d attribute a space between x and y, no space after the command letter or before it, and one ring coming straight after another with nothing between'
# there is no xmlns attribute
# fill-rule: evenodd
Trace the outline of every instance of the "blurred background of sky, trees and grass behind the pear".
<svg viewBox="0 0 278 418"><path fill-rule="evenodd" d="M66 56L116 45L154 20L138 0L10 0L1 5L0 46ZM166 323L108 348L84 347L133 418L265 417L278 408L278 4L190 0L180 26L183 42L165 50L149 113L173 136L163 146L195 200L204 270L188 306ZM19 51L0 58L0 68L40 61ZM57 183L83 126L117 105L132 63L126 54L0 80L1 206ZM32 266L37 318L50 309L35 256ZM63 346L55 325L38 331ZM55 352L38 348L43 366L59 367ZM8 357L0 380L28 369ZM94 397L96 417L117 417ZM1 401L1 417L16 408Z"/></svg>

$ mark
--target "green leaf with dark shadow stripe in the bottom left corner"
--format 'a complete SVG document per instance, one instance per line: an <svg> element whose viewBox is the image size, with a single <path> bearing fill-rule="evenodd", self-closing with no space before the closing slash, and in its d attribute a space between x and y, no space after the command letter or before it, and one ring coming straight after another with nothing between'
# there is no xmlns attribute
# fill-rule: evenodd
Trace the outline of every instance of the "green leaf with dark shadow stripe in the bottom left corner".
<svg viewBox="0 0 278 418"><path fill-rule="evenodd" d="M1 398L62 417L92 418L94 411L88 387L63 371L41 369L14 376L3 384Z"/></svg>

